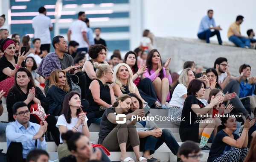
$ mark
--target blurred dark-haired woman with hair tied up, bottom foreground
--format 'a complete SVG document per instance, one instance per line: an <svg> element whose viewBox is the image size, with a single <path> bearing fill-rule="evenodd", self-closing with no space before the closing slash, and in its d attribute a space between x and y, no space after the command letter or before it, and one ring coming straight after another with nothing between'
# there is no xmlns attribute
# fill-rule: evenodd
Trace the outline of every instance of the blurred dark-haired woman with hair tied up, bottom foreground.
<svg viewBox="0 0 256 162"><path fill-rule="evenodd" d="M72 130L63 133L61 138L66 141L67 148L72 155L64 157L60 162L89 162L90 160L102 160L102 152L99 148L93 149L89 138L80 132Z"/></svg>

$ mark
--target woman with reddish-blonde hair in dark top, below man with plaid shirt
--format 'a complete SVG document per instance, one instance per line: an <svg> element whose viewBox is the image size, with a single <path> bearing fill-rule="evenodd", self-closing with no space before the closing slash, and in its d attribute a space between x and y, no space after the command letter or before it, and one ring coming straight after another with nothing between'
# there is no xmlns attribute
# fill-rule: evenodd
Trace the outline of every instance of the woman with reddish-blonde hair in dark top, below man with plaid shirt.
<svg viewBox="0 0 256 162"><path fill-rule="evenodd" d="M59 116L62 110L62 103L65 95L70 91L70 86L67 83L66 72L60 69L53 70L49 79L49 90L46 99L49 101L48 113L53 116ZM89 103L87 100L82 100L82 109L85 112Z"/></svg>

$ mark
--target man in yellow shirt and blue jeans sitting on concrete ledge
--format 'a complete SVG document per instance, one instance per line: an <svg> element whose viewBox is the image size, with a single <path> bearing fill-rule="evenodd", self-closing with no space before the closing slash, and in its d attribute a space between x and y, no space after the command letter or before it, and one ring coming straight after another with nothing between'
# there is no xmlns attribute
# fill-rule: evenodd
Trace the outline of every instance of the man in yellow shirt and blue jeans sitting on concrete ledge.
<svg viewBox="0 0 256 162"><path fill-rule="evenodd" d="M240 32L240 24L244 21L243 16L239 15L236 17L236 22L232 23L227 31L227 38L231 42L235 43L236 46L242 48L250 47L250 39L242 36Z"/></svg>

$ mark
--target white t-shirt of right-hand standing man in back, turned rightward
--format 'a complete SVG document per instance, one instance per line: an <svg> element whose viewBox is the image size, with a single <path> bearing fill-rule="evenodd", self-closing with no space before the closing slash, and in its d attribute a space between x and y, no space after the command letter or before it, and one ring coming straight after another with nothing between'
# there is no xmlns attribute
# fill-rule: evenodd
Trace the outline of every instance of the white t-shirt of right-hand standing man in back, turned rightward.
<svg viewBox="0 0 256 162"><path fill-rule="evenodd" d="M74 21L68 30L71 31L71 40L75 40L77 43L79 43L79 46L77 48L88 47L88 44L86 43L86 41L84 41L84 38L82 35L82 32L87 32L87 26L84 21L82 20Z"/></svg>

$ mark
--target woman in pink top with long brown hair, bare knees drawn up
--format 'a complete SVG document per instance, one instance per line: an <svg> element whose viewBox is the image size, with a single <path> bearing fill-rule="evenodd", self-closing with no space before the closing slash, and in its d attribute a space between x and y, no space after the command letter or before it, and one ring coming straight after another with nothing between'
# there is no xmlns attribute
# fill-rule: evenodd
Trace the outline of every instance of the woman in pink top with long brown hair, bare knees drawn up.
<svg viewBox="0 0 256 162"><path fill-rule="evenodd" d="M144 73L144 76L152 81L157 93L157 99L161 102L162 108L168 108L166 101L170 100L169 84L172 83L168 68L170 61L171 58L162 66L159 52L157 49L152 49L148 53L147 69Z"/></svg>

